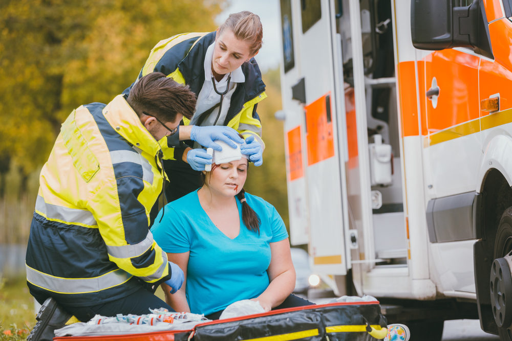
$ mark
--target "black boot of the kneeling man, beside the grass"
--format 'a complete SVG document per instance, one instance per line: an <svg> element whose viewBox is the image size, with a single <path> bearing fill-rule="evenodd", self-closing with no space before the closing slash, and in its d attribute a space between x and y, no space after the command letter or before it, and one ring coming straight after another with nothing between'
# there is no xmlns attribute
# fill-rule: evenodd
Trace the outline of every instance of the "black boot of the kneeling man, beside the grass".
<svg viewBox="0 0 512 341"><path fill-rule="evenodd" d="M37 316L37 323L27 337L28 341L51 341L55 337L53 331L62 328L71 318L71 314L62 309L53 298L46 299Z"/></svg>

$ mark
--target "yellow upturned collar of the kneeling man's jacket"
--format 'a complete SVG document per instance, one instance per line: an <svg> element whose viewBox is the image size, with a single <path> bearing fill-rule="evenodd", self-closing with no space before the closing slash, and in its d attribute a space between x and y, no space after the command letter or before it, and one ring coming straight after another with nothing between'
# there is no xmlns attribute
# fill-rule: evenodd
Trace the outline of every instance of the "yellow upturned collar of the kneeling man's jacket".
<svg viewBox="0 0 512 341"><path fill-rule="evenodd" d="M155 156L160 145L140 122L137 113L123 95L116 96L103 108L103 115L119 135L137 148Z"/></svg>

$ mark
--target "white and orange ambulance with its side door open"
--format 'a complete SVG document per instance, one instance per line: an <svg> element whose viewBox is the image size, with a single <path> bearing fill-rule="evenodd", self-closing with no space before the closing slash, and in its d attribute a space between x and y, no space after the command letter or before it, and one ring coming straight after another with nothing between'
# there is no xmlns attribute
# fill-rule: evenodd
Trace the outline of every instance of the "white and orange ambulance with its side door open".
<svg viewBox="0 0 512 341"><path fill-rule="evenodd" d="M512 0L281 0L290 238L414 340L512 340Z"/></svg>

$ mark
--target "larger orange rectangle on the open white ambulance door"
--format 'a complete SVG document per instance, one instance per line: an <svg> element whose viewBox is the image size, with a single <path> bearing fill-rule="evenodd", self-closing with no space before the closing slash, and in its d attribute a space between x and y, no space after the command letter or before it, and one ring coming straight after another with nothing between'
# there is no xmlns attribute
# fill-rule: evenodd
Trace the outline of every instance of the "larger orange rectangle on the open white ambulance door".
<svg viewBox="0 0 512 341"><path fill-rule="evenodd" d="M329 107L327 107L329 105ZM330 93L304 106L308 166L334 156Z"/></svg>

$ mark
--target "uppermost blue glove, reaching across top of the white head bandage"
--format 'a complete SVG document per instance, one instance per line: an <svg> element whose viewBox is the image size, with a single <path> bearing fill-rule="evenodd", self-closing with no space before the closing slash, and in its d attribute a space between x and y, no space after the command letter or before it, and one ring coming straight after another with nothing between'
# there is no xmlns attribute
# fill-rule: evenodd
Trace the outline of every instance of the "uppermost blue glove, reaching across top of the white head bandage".
<svg viewBox="0 0 512 341"><path fill-rule="evenodd" d="M222 147L214 142L215 140L224 141L233 148L237 148L237 145L234 144L233 141L244 143L244 139L238 135L236 130L224 126L192 126L192 128L190 128L190 140L196 141L203 147L213 148L215 150L222 150Z"/></svg>

